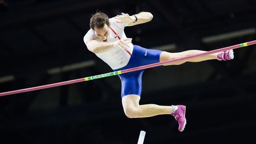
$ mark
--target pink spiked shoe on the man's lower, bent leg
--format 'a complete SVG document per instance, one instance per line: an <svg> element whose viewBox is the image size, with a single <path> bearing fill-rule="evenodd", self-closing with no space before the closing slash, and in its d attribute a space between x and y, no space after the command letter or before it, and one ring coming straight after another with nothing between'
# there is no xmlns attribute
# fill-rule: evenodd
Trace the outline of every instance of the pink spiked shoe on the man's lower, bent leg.
<svg viewBox="0 0 256 144"><path fill-rule="evenodd" d="M185 128L185 124L187 123L187 120L185 119L185 105L177 105L177 106L178 106L178 109L171 115L174 116L174 118L178 121L178 124L179 124L178 130L180 132L183 132Z"/></svg>

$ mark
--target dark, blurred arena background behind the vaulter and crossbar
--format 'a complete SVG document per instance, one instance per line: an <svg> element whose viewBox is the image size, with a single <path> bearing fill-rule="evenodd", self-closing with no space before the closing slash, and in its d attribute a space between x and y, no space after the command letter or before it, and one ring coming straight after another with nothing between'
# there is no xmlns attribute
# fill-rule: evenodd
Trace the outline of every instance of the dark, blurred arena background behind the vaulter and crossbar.
<svg viewBox="0 0 256 144"><path fill-rule="evenodd" d="M256 40L255 0L6 0L0 2L0 92L111 72L83 37L97 9L114 17L149 11L126 27L133 44L181 52ZM151 68L140 104L187 105L187 126L171 116L129 119L118 76L0 98L0 143L256 143L255 46L230 61Z"/></svg>

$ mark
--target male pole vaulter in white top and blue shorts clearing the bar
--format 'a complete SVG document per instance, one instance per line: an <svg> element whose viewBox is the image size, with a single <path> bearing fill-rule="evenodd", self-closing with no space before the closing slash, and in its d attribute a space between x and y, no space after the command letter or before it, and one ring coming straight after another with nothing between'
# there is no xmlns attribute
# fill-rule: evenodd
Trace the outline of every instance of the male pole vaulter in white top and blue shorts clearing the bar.
<svg viewBox="0 0 256 144"><path fill-rule="evenodd" d="M160 50L145 49L132 44L132 39L126 37L124 27L143 24L151 21L153 15L150 12L140 12L130 16L121 13L113 18L108 18L103 12L92 15L91 29L85 34L84 42L89 51L95 53L107 63L114 71L163 62L177 57L184 57L202 53L201 50L187 50L180 53L168 53ZM203 56L183 62L167 63L166 65L180 65L185 62L201 62L203 60L231 60L233 51ZM178 121L178 130L184 130L185 105L140 105L142 91L142 73L144 70L123 73L121 79L121 98L123 110L129 118L152 117L160 114L171 114Z"/></svg>

